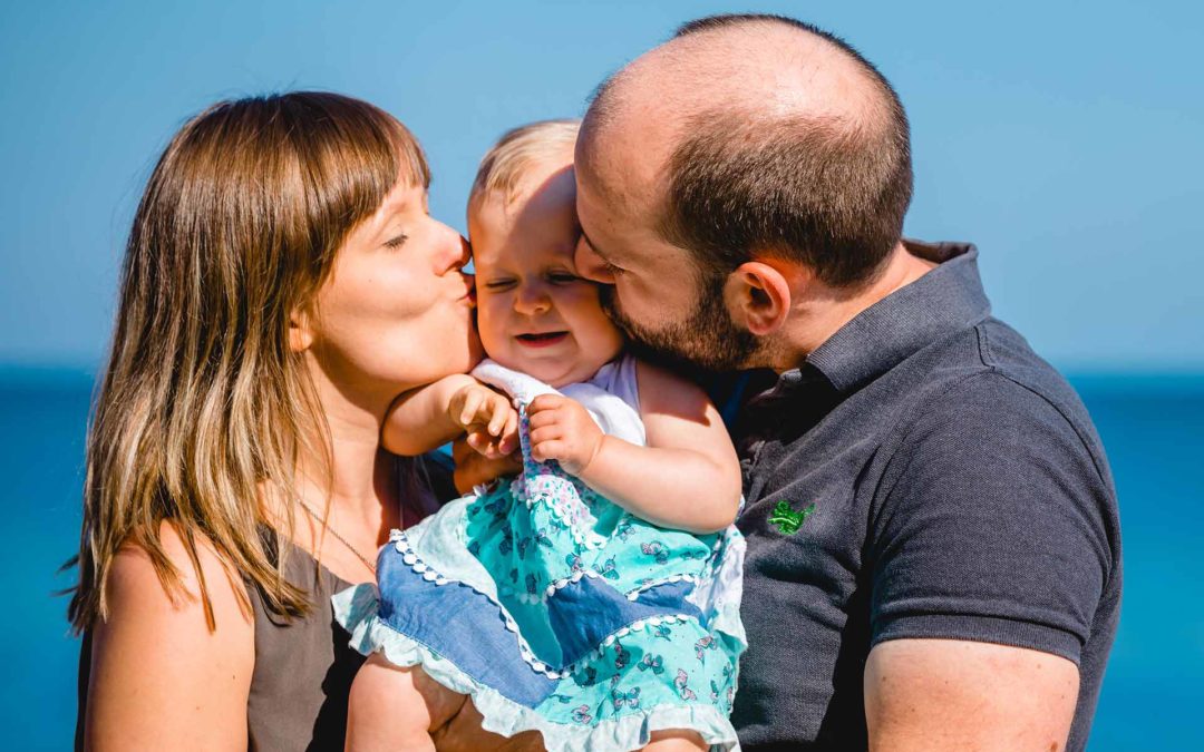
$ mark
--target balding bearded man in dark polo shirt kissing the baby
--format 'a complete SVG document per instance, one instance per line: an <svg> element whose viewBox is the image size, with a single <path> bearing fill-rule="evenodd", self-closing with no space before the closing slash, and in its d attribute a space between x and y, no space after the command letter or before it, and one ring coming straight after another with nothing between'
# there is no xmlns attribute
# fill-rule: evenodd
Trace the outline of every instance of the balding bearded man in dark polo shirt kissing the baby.
<svg viewBox="0 0 1204 752"><path fill-rule="evenodd" d="M598 90L577 176L579 273L636 343L777 374L734 432L745 748L1084 748L1120 604L1106 461L976 250L901 238L886 79L792 19L697 20Z"/></svg>

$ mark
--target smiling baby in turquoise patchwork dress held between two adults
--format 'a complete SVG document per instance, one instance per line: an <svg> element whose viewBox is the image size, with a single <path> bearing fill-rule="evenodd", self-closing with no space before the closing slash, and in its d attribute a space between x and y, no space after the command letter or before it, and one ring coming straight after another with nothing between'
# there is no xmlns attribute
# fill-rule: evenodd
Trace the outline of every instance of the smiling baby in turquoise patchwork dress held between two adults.
<svg viewBox="0 0 1204 752"><path fill-rule="evenodd" d="M390 451L467 432L524 469L394 531L378 588L336 596L372 656L349 748L433 748L465 697L485 730L549 750L737 746L736 452L697 386L624 354L576 273L577 126L519 128L485 155L468 229L489 359L388 416Z"/></svg>

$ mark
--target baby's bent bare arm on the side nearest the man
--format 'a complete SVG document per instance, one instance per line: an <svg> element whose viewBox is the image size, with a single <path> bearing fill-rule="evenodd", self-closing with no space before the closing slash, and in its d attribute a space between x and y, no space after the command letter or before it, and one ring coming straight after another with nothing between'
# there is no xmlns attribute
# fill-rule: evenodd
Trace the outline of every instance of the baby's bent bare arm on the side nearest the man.
<svg viewBox="0 0 1204 752"><path fill-rule="evenodd" d="M531 456L561 467L661 527L721 531L736 519L740 469L719 410L696 385L637 363L648 446L606 436L577 402L537 397L527 408Z"/></svg>

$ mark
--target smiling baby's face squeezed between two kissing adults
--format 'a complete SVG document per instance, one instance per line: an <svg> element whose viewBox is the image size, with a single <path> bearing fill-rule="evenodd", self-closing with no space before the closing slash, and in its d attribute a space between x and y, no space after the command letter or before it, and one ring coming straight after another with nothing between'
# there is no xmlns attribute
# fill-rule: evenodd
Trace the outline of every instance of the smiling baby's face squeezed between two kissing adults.
<svg viewBox="0 0 1204 752"><path fill-rule="evenodd" d="M622 349L597 285L573 266L574 202L572 167L553 164L510 205L486 197L468 213L480 342L498 363L551 386L589 379Z"/></svg>

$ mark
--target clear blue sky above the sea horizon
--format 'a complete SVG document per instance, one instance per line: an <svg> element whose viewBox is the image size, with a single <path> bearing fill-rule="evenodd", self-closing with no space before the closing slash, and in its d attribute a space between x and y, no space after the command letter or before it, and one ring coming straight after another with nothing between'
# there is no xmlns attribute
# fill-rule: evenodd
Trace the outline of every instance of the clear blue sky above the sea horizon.
<svg viewBox="0 0 1204 752"><path fill-rule="evenodd" d="M795 14L895 83L907 229L982 251L996 313L1070 371L1204 371L1204 6L1188 2L55 2L0 10L0 365L94 368L147 173L207 103L337 90L399 116L464 229L503 130L580 114L681 22Z"/></svg>

